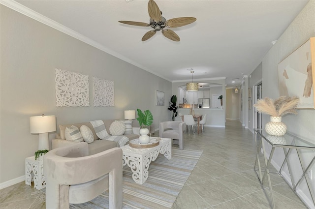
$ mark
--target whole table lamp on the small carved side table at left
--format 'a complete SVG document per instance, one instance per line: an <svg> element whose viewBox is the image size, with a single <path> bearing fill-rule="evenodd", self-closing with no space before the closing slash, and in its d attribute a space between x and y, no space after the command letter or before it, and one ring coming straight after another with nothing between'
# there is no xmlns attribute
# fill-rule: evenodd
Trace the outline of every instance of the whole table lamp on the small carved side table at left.
<svg viewBox="0 0 315 209"><path fill-rule="evenodd" d="M30 129L32 134L39 134L38 149L49 149L48 132L56 131L56 116L30 117Z"/></svg>

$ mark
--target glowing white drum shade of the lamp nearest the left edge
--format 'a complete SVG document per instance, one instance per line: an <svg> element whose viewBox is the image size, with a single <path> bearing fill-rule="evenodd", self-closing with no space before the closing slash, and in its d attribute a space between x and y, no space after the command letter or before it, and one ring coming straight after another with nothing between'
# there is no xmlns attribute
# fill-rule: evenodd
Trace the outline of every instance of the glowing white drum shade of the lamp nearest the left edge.
<svg viewBox="0 0 315 209"><path fill-rule="evenodd" d="M30 129L32 134L56 131L56 116L30 117Z"/></svg>

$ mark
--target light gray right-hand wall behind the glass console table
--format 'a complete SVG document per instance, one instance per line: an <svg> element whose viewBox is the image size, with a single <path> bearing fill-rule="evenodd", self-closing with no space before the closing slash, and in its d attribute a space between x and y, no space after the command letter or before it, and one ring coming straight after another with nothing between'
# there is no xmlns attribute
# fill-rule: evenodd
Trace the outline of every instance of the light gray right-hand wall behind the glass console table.
<svg viewBox="0 0 315 209"><path fill-rule="evenodd" d="M278 98L280 96L278 88L278 63L286 56L295 51L299 46L305 43L310 37L315 36L315 0L309 1L300 14L294 19L290 26L280 36L277 43L269 50L262 60L262 82L263 97ZM314 81L313 81L314 82ZM314 92L312 92L314 93ZM315 143L315 110L298 110L297 115L287 114L282 121L287 125L287 130L300 136L303 139ZM263 115L263 127L270 120L270 117ZM270 149L269 149L270 150ZM284 160L282 149L276 149L274 154L273 165L279 169ZM313 151L303 151L301 157L305 162L309 162L315 153ZM293 179L299 179L302 174L298 165L298 157L296 153L290 157L289 163L294 168L291 174ZM312 173L308 173L311 180L311 188L315 189L315 164L312 166ZM284 178L290 180L290 176L284 175ZM302 199L309 204L309 208L314 208L310 194L306 189L305 180L302 181L300 187L302 192L298 193Z"/></svg>

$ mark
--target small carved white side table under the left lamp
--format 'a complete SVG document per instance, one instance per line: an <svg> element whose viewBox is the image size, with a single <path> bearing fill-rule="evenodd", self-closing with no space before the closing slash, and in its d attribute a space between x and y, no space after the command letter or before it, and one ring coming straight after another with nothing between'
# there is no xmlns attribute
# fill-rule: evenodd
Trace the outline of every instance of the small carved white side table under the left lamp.
<svg viewBox="0 0 315 209"><path fill-rule="evenodd" d="M43 163L42 160L35 160L35 156L25 158L25 183L31 186L33 172L34 188L38 190L46 187Z"/></svg>

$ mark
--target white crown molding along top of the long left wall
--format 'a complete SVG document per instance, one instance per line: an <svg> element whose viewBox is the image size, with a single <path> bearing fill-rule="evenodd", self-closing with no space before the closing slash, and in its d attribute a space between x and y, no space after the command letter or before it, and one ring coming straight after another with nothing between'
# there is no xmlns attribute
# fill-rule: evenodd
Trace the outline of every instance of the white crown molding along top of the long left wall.
<svg viewBox="0 0 315 209"><path fill-rule="evenodd" d="M134 66L137 66L137 67L139 67L145 71L148 71L148 72L150 72L150 73L152 73L152 74L154 74L154 75L156 75L162 79L165 79L169 82L172 82L171 80L169 80L169 79L167 79L161 75L158 75L155 72L152 72L151 70L147 69L146 67L142 66L141 64L134 62L133 60L130 60L130 59L126 58L125 56L123 56L123 55L121 55L121 54L119 54L113 50L108 49L107 47L105 47L105 46L99 44L98 42L82 35L81 33L78 33L72 29L69 29L69 28L63 26L62 24L60 24L60 23L58 23L52 19L49 19L48 17L46 17L46 16L44 16L38 12L35 12L34 10L24 6L23 4L16 2L15 0L0 0L0 4L10 8L10 9L13 9L14 11L17 11L17 12L19 12L19 13L27 16L27 17L30 17L30 18L32 18L32 19L34 19L34 20L36 20L42 24L45 24L45 25L47 25L53 29L59 30L59 31L61 31L67 35L70 35L70 36L72 36L72 37L74 37L74 38L76 38L76 39L78 39L78 40L80 40L86 44L89 44L89 45L91 45L91 46L93 46L93 47L95 47L95 48L97 48L103 52L106 52L107 54L110 54L116 58L119 58L119 59L124 60L124 61L126 61L126 62L128 62Z"/></svg>

